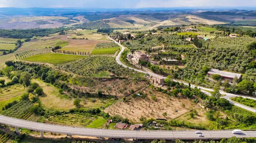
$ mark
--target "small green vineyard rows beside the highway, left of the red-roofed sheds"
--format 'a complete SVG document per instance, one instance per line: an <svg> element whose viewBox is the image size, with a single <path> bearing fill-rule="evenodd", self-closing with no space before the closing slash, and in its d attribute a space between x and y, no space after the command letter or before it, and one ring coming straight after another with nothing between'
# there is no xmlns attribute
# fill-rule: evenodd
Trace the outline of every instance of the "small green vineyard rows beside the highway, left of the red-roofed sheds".
<svg viewBox="0 0 256 143"><path fill-rule="evenodd" d="M96 115L88 113L70 113L66 115L54 115L48 118L48 121L62 123L71 126L87 126L97 118Z"/></svg>

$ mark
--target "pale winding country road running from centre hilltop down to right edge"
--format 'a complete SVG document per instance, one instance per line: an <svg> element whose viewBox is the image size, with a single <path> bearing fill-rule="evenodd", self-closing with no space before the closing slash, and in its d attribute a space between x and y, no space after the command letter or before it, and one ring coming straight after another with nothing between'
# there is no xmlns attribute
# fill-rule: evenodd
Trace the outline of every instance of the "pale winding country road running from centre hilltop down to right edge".
<svg viewBox="0 0 256 143"><path fill-rule="evenodd" d="M124 47L123 45L121 45L120 43L116 42L116 41L115 41L114 39L112 39L110 36L108 36L108 38L111 39L112 41L114 41L114 42L115 42L116 44L118 44L120 47L122 47L122 50L121 50L121 51L119 52L119 54L116 56L116 62L117 62L118 64L121 64L123 67L128 67L127 65L123 64L123 63L120 61L121 54L122 54L122 52L125 50L125 47ZM148 70L145 70L145 69L144 69L144 70L145 70L145 71L144 71L144 70L138 70L138 69L135 69L135 68L132 68L132 67L128 67L128 68L129 68L129 69L132 69L132 70L135 70L135 71L137 71L137 72L140 72L140 73L148 74L148 75L150 75L150 76L157 75L157 74L152 73L151 71L148 71ZM160 75L158 75L158 76L160 76ZM166 77L164 77L164 76L160 76L160 77L166 79ZM177 80L175 80L175 79L173 79L173 81L179 82L179 83L183 83L183 84L185 84L185 85L189 85L189 84L186 83L186 82L177 81ZM196 86L193 85L193 84L191 84L191 87L192 87L192 88L195 88ZM211 95L211 94L208 93L208 92L206 92L206 91L204 91L204 90L213 91L212 89L205 88L205 87L200 87L200 86L197 86L197 88L198 88L198 89L201 89L201 92L203 92L203 93L205 93L205 94L207 94L207 95ZM236 103L236 102L230 100L231 97L239 97L239 96L241 96L241 97L243 97L243 98L250 98L250 99L253 99L253 100L256 100L256 98L247 97L247 96L243 96L243 95L236 95L236 94L232 94L232 93L225 93L224 91L221 91L221 90L220 90L220 93L223 94L223 95L225 95L225 96L223 96L223 97L221 97L221 98L227 99L227 100L230 102L230 104L236 105L236 106L238 106L238 107L241 107L241 108L246 109L246 110L251 111L251 112L256 112L256 109L253 109L253 108L251 108L251 107L244 106L244 105L242 105L242 104L239 104L239 103Z"/></svg>

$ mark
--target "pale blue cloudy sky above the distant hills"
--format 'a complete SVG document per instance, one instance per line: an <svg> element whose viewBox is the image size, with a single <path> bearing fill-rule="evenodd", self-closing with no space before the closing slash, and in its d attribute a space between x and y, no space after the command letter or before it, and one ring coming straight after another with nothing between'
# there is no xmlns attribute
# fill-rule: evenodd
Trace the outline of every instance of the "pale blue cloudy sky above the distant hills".
<svg viewBox="0 0 256 143"><path fill-rule="evenodd" d="M225 6L256 7L256 0L0 0L0 7L157 8Z"/></svg>

